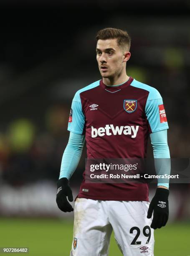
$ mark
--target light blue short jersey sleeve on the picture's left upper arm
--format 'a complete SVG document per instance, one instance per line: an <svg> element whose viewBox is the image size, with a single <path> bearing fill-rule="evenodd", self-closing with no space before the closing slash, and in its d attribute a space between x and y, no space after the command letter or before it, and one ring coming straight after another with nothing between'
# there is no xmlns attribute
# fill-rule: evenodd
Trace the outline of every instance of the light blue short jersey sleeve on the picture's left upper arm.
<svg viewBox="0 0 190 256"><path fill-rule="evenodd" d="M84 123L85 116L82 111L81 98L78 91L72 101L67 130L77 134L84 134Z"/></svg>

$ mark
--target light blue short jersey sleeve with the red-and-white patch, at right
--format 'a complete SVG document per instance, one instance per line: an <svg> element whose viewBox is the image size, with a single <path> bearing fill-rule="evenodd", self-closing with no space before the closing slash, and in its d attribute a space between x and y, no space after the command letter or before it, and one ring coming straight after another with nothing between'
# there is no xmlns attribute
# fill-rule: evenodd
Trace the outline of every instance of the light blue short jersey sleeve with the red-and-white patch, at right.
<svg viewBox="0 0 190 256"><path fill-rule="evenodd" d="M164 111L165 115L162 97L155 88L150 88L151 90L149 91L145 106L145 114L147 116L147 120L149 122L152 133L155 133L157 131L168 129L168 124L166 118L162 118L162 111ZM163 107L163 110L160 110L159 106L160 108Z"/></svg>

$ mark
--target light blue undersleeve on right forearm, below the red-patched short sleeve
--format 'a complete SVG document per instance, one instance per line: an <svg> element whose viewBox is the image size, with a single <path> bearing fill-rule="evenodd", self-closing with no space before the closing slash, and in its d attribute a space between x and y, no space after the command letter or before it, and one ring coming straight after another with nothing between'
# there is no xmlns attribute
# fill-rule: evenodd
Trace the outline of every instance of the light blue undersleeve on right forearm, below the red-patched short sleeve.
<svg viewBox="0 0 190 256"><path fill-rule="evenodd" d="M155 169L157 174L170 174L170 151L167 144L167 130L150 134L155 159ZM158 179L158 186L169 188L169 182L163 183Z"/></svg>

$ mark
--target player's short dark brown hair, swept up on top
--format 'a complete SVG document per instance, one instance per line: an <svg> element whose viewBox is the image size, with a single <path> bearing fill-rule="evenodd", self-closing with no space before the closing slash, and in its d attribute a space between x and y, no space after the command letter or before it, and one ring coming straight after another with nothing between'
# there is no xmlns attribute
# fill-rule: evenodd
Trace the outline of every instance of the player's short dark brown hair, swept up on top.
<svg viewBox="0 0 190 256"><path fill-rule="evenodd" d="M127 31L118 28L104 28L98 31L96 39L106 40L117 38L117 44L122 48L129 51L131 45L131 38Z"/></svg>

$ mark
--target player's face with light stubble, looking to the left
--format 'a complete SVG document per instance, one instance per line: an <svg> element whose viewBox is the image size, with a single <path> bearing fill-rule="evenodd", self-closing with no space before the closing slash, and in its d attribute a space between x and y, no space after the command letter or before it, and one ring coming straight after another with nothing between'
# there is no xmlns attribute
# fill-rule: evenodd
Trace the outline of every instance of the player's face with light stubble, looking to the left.
<svg viewBox="0 0 190 256"><path fill-rule="evenodd" d="M118 46L117 39L99 39L96 46L96 59L99 71L104 78L115 77L125 68L124 51Z"/></svg>

